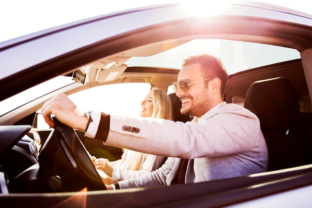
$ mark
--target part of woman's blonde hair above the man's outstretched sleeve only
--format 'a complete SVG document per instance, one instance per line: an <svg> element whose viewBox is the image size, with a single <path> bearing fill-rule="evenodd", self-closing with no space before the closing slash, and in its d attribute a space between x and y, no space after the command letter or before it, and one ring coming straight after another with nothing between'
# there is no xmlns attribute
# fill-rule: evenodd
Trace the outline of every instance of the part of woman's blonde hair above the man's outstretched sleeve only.
<svg viewBox="0 0 312 208"><path fill-rule="evenodd" d="M154 110L152 117L172 120L172 104L169 96L158 89L152 89Z"/></svg>

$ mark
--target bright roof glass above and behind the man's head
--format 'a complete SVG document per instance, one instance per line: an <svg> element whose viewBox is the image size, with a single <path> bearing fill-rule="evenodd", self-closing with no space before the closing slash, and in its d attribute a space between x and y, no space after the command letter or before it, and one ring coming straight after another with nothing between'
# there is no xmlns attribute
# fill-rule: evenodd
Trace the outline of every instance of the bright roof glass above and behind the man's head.
<svg viewBox="0 0 312 208"><path fill-rule="evenodd" d="M229 75L300 58L299 51L292 48L233 40L195 39L154 56L133 57L125 64L180 69L185 57L204 53L220 58Z"/></svg>

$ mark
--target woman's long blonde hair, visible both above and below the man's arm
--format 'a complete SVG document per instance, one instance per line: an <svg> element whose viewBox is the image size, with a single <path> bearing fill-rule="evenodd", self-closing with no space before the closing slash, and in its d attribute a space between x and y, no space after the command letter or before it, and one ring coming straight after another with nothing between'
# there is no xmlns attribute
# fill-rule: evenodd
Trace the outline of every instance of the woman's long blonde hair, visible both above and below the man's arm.
<svg viewBox="0 0 312 208"><path fill-rule="evenodd" d="M165 92L158 89L152 89L151 91L153 93L153 106L154 106L152 117L173 120L172 104L169 96ZM133 163L130 165L129 169L139 170L142 158L143 153L136 152L133 155L132 160Z"/></svg>

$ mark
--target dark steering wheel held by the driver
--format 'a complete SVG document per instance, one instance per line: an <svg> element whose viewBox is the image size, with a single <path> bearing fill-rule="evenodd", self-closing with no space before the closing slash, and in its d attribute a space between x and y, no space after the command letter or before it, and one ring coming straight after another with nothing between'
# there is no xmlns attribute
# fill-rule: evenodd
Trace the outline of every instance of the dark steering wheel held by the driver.
<svg viewBox="0 0 312 208"><path fill-rule="evenodd" d="M53 121L56 130L47 139L38 157L39 177L41 180L53 179L55 183L54 188L49 184L46 191L73 192L84 188L89 191L106 190L76 132L55 117Z"/></svg>

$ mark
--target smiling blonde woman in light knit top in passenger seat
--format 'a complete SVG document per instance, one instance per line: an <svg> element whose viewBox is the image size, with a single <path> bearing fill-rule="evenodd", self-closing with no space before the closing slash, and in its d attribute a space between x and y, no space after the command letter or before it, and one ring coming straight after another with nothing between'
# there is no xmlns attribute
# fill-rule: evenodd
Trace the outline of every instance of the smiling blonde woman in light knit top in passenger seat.
<svg viewBox="0 0 312 208"><path fill-rule="evenodd" d="M169 96L160 90L151 90L141 103L140 116L164 118L172 120L172 107ZM156 156L124 149L122 158L109 162L105 158L92 157L105 184L137 178L158 169L164 162L165 157Z"/></svg>

